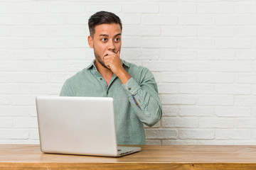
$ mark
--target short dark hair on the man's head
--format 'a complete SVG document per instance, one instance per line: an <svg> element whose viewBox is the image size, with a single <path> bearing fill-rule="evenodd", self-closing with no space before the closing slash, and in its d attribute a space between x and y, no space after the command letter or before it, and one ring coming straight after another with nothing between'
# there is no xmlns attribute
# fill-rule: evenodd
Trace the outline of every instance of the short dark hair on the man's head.
<svg viewBox="0 0 256 170"><path fill-rule="evenodd" d="M116 14L107 12L107 11L100 11L93 14L88 20L90 35L92 37L95 34L95 26L98 26L103 23L109 23L109 24L117 23L119 24L122 30L122 21Z"/></svg>

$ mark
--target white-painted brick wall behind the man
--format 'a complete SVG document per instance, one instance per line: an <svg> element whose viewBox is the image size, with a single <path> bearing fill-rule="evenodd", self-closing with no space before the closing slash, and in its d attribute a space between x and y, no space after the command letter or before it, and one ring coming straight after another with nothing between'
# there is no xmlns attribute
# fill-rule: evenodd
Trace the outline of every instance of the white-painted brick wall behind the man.
<svg viewBox="0 0 256 170"><path fill-rule="evenodd" d="M87 67L88 18L123 21L121 56L153 72L150 145L255 145L255 0L0 1L0 143L38 144L36 96Z"/></svg>

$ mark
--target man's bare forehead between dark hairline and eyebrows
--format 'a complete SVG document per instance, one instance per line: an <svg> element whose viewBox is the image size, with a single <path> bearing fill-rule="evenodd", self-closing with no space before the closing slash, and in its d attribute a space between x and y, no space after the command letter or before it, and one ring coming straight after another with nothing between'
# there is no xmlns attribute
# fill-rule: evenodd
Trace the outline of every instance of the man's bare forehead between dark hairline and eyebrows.
<svg viewBox="0 0 256 170"><path fill-rule="evenodd" d="M121 33L121 27L117 23L104 23L98 26L95 26L95 35L107 34L107 35L117 35Z"/></svg>

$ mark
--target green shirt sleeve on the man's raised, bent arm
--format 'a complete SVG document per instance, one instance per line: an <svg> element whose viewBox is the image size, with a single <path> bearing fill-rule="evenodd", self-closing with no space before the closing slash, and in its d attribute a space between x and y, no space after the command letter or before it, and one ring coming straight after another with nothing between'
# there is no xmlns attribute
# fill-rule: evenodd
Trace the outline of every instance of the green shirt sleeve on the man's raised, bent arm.
<svg viewBox="0 0 256 170"><path fill-rule="evenodd" d="M146 69L141 79L142 81L138 83L131 78L122 86L139 120L151 127L161 119L161 102L153 74Z"/></svg>

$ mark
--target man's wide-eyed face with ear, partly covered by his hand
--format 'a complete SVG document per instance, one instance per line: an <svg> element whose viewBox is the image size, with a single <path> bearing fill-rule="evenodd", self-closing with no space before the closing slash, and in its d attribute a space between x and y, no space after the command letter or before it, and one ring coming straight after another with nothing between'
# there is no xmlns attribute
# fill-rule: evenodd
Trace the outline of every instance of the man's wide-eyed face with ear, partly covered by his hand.
<svg viewBox="0 0 256 170"><path fill-rule="evenodd" d="M121 27L119 24L101 24L95 27L93 38L88 37L88 43L94 49L95 59L107 68L104 63L104 57L110 52L120 52L121 50Z"/></svg>

